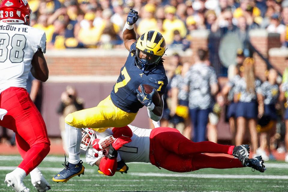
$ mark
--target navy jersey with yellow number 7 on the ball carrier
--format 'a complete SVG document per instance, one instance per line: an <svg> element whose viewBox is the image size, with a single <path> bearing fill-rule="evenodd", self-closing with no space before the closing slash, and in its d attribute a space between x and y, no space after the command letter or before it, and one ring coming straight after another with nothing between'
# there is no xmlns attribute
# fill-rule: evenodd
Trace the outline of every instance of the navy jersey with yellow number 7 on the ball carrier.
<svg viewBox="0 0 288 192"><path fill-rule="evenodd" d="M137 99L136 90L139 85L150 85L154 87L159 94L165 92L168 84L167 76L163 64L158 64L155 69L150 72L143 73L135 65L135 54L131 52L136 50L136 44L132 44L125 65L121 68L121 72L116 84L111 91L111 100L116 107L125 112L137 113L143 105Z"/></svg>

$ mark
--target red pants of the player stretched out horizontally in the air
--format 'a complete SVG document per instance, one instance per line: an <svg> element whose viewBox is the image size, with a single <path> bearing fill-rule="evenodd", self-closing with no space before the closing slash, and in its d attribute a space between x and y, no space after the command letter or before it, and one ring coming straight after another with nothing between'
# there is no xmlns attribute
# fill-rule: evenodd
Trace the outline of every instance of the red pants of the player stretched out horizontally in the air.
<svg viewBox="0 0 288 192"><path fill-rule="evenodd" d="M150 161L173 172L189 172L202 168L227 169L243 167L235 158L212 157L202 153L232 154L234 146L210 141L194 143L177 129L159 127L150 134Z"/></svg>

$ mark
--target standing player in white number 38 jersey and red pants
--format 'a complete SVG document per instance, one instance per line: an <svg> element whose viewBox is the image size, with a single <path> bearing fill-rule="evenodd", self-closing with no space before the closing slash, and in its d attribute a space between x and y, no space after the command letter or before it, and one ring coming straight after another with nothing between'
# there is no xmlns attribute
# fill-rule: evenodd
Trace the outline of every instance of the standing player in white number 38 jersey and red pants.
<svg viewBox="0 0 288 192"><path fill-rule="evenodd" d="M23 179L29 173L38 191L50 189L37 166L50 150L44 120L26 91L29 71L43 82L48 79L46 35L30 27L31 9L26 0L0 3L0 126L16 134L23 161L5 177L7 186L29 192Z"/></svg>

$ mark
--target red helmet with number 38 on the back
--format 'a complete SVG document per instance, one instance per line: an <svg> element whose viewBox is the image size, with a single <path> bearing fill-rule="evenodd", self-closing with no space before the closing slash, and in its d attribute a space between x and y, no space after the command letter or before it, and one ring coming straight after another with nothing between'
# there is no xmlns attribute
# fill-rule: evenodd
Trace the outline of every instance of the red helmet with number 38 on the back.
<svg viewBox="0 0 288 192"><path fill-rule="evenodd" d="M0 21L30 25L32 10L27 0L3 0L0 3Z"/></svg>

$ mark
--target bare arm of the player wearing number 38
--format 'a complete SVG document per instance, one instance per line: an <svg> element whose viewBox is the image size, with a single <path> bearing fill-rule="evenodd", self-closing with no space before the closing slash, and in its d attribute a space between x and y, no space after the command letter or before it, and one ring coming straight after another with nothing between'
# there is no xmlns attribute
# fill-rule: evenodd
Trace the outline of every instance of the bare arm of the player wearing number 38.
<svg viewBox="0 0 288 192"><path fill-rule="evenodd" d="M41 49L38 49L38 51L35 52L31 64L32 64L31 68L32 75L40 81L43 82L47 81L49 70L46 63L46 59Z"/></svg>

